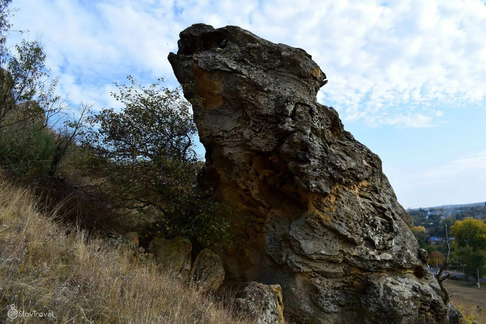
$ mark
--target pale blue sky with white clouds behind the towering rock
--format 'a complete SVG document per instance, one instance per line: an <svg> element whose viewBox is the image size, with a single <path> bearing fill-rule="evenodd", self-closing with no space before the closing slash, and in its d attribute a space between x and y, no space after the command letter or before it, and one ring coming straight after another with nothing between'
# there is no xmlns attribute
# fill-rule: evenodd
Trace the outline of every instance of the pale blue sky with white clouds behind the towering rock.
<svg viewBox="0 0 486 324"><path fill-rule="evenodd" d="M15 0L14 0L15 1ZM114 82L165 78L180 31L237 25L312 55L318 101L377 153L407 207L486 201L486 1L17 0L10 42L40 38L57 94L119 108ZM200 147L200 150L204 150ZM201 152L202 153L202 152Z"/></svg>

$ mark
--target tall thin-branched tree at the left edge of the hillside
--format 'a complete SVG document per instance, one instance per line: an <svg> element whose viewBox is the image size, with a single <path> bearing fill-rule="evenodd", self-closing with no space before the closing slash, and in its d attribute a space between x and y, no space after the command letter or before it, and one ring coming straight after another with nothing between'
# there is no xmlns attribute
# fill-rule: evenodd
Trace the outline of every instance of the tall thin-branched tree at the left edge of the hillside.
<svg viewBox="0 0 486 324"><path fill-rule="evenodd" d="M84 128L88 107L72 114L54 95L57 79L38 39L22 40L13 52L6 46L17 10L11 2L0 0L0 165L19 178L52 177Z"/></svg>

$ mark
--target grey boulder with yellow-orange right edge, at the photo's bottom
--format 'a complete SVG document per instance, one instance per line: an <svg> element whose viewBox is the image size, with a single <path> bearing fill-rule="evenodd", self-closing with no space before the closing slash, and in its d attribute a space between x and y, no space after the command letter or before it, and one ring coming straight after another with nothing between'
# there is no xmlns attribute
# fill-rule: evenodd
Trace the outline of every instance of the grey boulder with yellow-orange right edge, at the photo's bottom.
<svg viewBox="0 0 486 324"><path fill-rule="evenodd" d="M282 289L280 285L250 282L236 299L236 309L257 324L283 324Z"/></svg>

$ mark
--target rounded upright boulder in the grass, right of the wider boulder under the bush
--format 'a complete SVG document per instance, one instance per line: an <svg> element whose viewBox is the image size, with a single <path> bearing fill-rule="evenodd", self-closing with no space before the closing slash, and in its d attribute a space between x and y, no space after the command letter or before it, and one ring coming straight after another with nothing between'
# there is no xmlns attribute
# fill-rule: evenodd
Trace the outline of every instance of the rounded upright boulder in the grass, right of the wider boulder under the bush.
<svg viewBox="0 0 486 324"><path fill-rule="evenodd" d="M225 280L225 269L221 257L209 249L202 250L192 265L191 277L201 290L218 290Z"/></svg>

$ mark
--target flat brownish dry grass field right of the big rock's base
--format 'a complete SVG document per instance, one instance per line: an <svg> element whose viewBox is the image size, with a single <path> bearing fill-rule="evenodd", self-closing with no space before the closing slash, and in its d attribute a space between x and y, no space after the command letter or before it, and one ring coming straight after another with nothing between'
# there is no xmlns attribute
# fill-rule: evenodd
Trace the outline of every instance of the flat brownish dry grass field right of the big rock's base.
<svg viewBox="0 0 486 324"><path fill-rule="evenodd" d="M451 294L451 303L459 307L466 319L477 324L486 324L486 287L477 284L447 280L446 288Z"/></svg>

